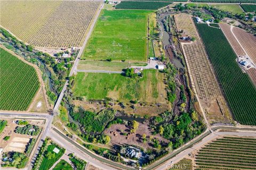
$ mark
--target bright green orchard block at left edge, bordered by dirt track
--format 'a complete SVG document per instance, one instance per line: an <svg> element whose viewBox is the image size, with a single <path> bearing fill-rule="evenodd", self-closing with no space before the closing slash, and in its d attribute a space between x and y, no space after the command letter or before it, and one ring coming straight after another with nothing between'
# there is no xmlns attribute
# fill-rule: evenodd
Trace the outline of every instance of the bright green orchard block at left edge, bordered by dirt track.
<svg viewBox="0 0 256 170"><path fill-rule="evenodd" d="M30 66L0 48L0 109L25 111L39 89L38 75Z"/></svg>

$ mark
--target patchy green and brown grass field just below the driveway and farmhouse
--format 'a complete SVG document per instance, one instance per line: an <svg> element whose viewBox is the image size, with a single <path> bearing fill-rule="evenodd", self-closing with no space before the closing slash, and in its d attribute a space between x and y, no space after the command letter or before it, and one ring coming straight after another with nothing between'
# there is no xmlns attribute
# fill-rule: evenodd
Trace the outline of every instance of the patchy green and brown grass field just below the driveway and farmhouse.
<svg viewBox="0 0 256 170"><path fill-rule="evenodd" d="M74 95L87 100L112 98L120 101L140 100L166 103L164 74L158 70L144 70L143 78L127 78L121 74L78 72Z"/></svg>

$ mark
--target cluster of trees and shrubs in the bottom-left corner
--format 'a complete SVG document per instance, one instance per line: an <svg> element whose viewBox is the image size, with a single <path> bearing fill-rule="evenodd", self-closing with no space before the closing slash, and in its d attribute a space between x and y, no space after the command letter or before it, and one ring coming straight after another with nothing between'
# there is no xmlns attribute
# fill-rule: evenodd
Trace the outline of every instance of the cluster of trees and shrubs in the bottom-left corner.
<svg viewBox="0 0 256 170"><path fill-rule="evenodd" d="M3 153L3 163L2 167L15 167L24 168L28 162L28 157L20 152L11 151Z"/></svg>

